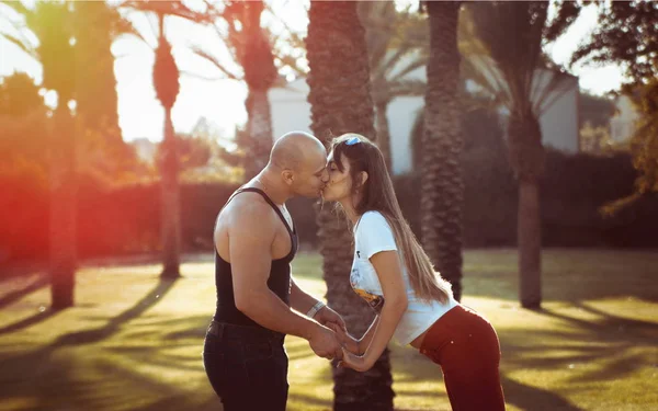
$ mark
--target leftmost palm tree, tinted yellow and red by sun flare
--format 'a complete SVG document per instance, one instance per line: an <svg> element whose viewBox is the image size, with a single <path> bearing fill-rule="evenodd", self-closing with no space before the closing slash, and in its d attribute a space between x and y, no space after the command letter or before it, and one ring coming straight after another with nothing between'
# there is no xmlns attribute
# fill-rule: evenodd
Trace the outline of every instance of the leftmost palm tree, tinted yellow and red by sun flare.
<svg viewBox="0 0 658 411"><path fill-rule="evenodd" d="M34 47L24 36L3 36L43 65L43 87L57 92L49 133L49 275L53 309L73 306L76 282L77 171L76 135L69 102L76 91L73 14L70 4L37 2L27 9L20 2L3 5L22 14L25 27L39 39Z"/></svg>

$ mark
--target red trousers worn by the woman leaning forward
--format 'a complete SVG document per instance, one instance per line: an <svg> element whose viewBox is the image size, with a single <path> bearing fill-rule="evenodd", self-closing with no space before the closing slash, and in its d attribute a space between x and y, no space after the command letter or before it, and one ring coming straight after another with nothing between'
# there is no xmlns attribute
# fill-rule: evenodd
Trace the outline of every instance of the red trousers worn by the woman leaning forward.
<svg viewBox="0 0 658 411"><path fill-rule="evenodd" d="M441 366L454 411L504 410L494 327L474 310L457 306L428 330L420 352Z"/></svg>

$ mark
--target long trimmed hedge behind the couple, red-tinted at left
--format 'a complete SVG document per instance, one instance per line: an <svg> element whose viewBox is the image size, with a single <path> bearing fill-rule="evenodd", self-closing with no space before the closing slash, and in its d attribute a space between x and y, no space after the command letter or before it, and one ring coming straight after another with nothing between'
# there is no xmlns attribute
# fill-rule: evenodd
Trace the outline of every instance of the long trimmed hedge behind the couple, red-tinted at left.
<svg viewBox="0 0 658 411"><path fill-rule="evenodd" d="M506 158L497 118L485 111L465 114L464 246L515 247L518 187ZM599 207L633 192L636 172L626 155L568 156L547 150L541 182L544 247L658 247L658 196L647 196L612 218ZM394 179L405 216L419 233L420 178ZM236 185L182 184L184 251L213 248L215 218ZM48 193L44 184L0 176L0 264L44 260L48 252ZM159 183L103 189L80 182L80 258L157 252L160 243ZM317 247L313 199L288 203L305 247Z"/></svg>

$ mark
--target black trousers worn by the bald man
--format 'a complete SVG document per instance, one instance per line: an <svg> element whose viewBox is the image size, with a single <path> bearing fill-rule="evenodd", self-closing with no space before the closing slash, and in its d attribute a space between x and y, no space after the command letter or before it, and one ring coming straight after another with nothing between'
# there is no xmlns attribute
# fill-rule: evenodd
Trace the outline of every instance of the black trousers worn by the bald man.
<svg viewBox="0 0 658 411"><path fill-rule="evenodd" d="M213 321L203 363L224 411L285 411L288 358L285 335Z"/></svg>

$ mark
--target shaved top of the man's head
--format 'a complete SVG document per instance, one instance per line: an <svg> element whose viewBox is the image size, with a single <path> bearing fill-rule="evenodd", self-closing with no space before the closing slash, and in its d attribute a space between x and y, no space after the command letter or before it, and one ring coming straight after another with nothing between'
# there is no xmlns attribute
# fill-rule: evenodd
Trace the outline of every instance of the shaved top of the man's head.
<svg viewBox="0 0 658 411"><path fill-rule="evenodd" d="M316 137L304 132L284 134L274 142L270 153L270 163L281 170L299 171L318 155L326 156L325 146Z"/></svg>

